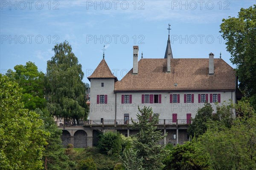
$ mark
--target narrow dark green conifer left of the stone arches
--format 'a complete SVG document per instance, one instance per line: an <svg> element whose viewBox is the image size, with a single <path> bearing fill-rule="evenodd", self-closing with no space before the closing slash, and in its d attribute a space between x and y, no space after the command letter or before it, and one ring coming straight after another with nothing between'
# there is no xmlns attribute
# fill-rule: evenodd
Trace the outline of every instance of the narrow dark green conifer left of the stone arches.
<svg viewBox="0 0 256 170"><path fill-rule="evenodd" d="M70 170L71 167L75 166L75 162L70 161L69 157L64 154L62 149L61 133L54 119L49 115L49 111L44 109L35 109L40 115L40 118L44 120L43 129L47 131L50 135L47 136L47 146L43 152L43 161L45 170Z"/></svg>

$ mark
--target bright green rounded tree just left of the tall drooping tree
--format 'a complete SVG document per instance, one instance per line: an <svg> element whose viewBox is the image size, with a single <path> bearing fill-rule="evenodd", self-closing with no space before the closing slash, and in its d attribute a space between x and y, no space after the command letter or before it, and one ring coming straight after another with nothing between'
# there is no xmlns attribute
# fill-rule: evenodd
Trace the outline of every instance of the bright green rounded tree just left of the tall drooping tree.
<svg viewBox="0 0 256 170"><path fill-rule="evenodd" d="M27 62L25 66L16 65L15 72L9 69L6 75L22 88L21 101L26 109L44 108L44 73L35 63Z"/></svg>

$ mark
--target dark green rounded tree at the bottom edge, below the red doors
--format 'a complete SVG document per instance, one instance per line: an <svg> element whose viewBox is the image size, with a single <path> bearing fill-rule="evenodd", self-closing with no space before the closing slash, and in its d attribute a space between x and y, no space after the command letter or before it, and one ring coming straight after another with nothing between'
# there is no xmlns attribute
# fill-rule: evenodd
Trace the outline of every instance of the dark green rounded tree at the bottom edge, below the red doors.
<svg viewBox="0 0 256 170"><path fill-rule="evenodd" d="M211 170L209 155L203 153L195 141L177 144L171 153L164 159L163 170Z"/></svg>

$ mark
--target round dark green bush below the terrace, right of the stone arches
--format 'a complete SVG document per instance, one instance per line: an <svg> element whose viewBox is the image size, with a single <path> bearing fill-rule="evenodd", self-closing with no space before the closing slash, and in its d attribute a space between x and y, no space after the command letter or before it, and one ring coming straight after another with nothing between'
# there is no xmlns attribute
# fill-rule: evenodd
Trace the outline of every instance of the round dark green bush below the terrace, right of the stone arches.
<svg viewBox="0 0 256 170"><path fill-rule="evenodd" d="M119 155L122 150L122 138L120 133L106 132L99 135L98 148L108 155Z"/></svg>

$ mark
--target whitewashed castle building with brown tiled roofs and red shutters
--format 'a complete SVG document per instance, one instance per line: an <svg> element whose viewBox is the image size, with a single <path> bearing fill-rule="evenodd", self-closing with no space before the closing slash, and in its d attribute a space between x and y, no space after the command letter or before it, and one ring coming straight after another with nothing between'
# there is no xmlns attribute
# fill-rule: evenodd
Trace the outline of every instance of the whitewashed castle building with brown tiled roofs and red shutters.
<svg viewBox="0 0 256 170"><path fill-rule="evenodd" d="M131 124L131 118L137 119L137 107L149 106L159 115L158 129L168 133L162 142L183 143L189 140L186 129L191 118L205 102L212 104L214 114L214 103L241 98L236 71L213 53L207 58L174 58L169 35L164 58L138 61L138 54L139 46L133 46L133 67L120 81L104 58L88 77L90 124ZM125 126L119 131L132 133Z"/></svg>

